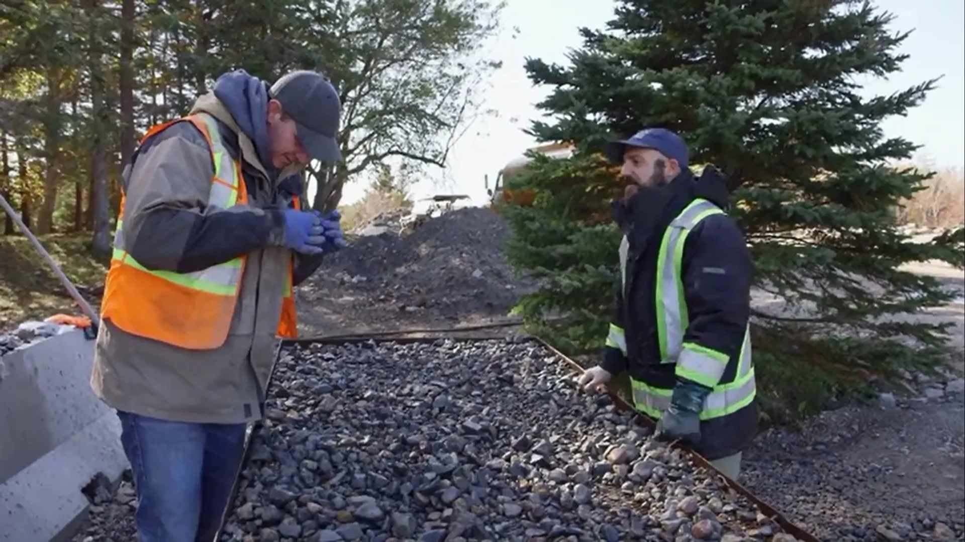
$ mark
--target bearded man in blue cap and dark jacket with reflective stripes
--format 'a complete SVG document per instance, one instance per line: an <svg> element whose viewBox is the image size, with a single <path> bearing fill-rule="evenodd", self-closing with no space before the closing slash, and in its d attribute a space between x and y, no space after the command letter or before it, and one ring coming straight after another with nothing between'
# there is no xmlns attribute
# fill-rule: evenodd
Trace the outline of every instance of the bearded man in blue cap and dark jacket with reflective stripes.
<svg viewBox="0 0 965 542"><path fill-rule="evenodd" d="M643 130L609 144L628 186L613 203L623 232L620 287L603 361L580 383L628 372L655 437L680 441L736 479L758 428L751 363L751 280L744 235L727 214L727 182L695 177L676 133Z"/></svg>

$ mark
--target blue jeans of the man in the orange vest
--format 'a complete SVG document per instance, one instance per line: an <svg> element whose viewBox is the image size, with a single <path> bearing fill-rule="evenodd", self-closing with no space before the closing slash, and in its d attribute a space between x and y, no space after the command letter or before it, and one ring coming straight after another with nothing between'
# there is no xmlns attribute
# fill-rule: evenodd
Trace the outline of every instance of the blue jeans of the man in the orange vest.
<svg viewBox="0 0 965 542"><path fill-rule="evenodd" d="M137 491L140 542L211 542L244 454L244 423L187 423L118 412Z"/></svg>

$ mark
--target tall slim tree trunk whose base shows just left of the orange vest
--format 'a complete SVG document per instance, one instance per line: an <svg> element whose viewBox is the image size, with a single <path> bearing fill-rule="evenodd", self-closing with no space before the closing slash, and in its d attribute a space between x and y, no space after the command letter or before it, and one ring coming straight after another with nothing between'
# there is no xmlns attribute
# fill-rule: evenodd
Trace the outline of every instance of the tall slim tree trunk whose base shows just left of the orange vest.
<svg viewBox="0 0 965 542"><path fill-rule="evenodd" d="M111 252L110 236L110 207L107 195L106 141L104 130L108 126L107 111L104 107L103 96L103 67L100 41L97 38L97 23L100 20L98 5L100 0L88 0L88 14L91 33L89 36L89 62L91 70L91 112L94 116L95 130L92 138L92 176L94 182L94 252L99 256L106 256Z"/></svg>

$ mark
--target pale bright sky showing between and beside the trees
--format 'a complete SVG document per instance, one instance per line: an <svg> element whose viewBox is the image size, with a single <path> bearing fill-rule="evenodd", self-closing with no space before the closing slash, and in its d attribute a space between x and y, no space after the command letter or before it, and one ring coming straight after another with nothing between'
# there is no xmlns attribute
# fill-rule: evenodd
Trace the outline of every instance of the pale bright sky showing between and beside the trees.
<svg viewBox="0 0 965 542"><path fill-rule="evenodd" d="M914 32L899 49L910 55L902 71L888 80L863 82L865 93L887 95L944 75L922 106L907 117L884 122L885 135L922 145L918 158L931 167L965 165L965 2L878 0L875 4L896 15L895 31ZM412 196L418 200L434 194L464 194L471 204L485 203L484 176L491 184L503 166L536 145L523 130L539 118L535 104L548 89L534 87L527 79L525 58L565 64L566 51L581 45L577 29L602 28L612 18L613 6L612 0L508 0L502 31L485 45L490 58L503 61L483 105L498 111L498 116L474 122L451 149L446 170L430 167L425 180L411 188ZM362 179L350 182L342 203L361 198L366 184Z"/></svg>

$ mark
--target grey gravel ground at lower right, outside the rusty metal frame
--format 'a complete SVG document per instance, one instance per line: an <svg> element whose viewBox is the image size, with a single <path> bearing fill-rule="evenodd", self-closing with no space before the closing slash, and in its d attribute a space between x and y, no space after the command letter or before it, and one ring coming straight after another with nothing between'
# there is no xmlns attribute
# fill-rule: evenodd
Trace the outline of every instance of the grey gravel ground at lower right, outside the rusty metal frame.
<svg viewBox="0 0 965 542"><path fill-rule="evenodd" d="M744 483L828 541L965 540L965 381L758 437Z"/></svg>

